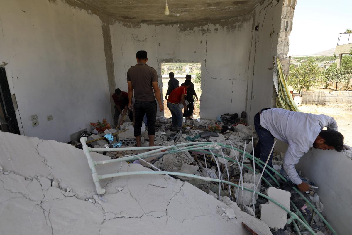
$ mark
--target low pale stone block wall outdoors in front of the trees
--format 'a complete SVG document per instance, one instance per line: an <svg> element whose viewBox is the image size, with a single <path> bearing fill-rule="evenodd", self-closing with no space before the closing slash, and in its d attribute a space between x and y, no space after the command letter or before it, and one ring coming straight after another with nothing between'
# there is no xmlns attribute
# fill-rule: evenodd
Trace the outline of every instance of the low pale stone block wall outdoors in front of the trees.
<svg viewBox="0 0 352 235"><path fill-rule="evenodd" d="M352 91L302 92L302 104L352 104Z"/></svg>

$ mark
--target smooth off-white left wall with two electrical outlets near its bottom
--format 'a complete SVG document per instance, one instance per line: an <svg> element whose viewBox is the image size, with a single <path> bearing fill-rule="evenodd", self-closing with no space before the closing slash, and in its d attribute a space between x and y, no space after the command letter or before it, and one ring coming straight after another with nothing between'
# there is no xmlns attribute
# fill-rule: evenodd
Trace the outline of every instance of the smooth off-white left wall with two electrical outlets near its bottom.
<svg viewBox="0 0 352 235"><path fill-rule="evenodd" d="M8 63L21 134L68 142L90 122L111 121L99 17L62 1L12 0L1 4L0 20L0 64Z"/></svg>

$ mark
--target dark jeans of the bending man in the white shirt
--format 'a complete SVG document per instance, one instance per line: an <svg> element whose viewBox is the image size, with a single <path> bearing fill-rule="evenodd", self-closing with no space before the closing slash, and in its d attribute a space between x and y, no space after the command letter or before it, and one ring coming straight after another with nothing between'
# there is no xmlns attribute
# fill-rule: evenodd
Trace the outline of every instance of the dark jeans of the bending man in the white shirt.
<svg viewBox="0 0 352 235"><path fill-rule="evenodd" d="M256 147L254 148L254 156L257 158L260 158L260 160L262 160L265 163L266 159L268 159L271 147L274 144L274 136L271 135L270 131L266 130L265 128L263 128L263 126L260 125L260 113L263 110L266 110L266 109L262 109L260 112L258 112L254 116L254 128L256 128L256 132L257 132L257 135L259 138L259 141L258 141ZM267 164L270 167L272 167L272 156L273 155L274 155L274 151L272 151L272 153L270 155L270 159ZM261 165L264 166L263 163L261 163ZM260 172L263 171L262 167L259 167L259 169L260 169ZM271 170L269 170L268 168L265 168L265 169L267 169L270 172L270 174L273 174L273 172ZM268 178L269 177L268 173L264 172L263 177Z"/></svg>

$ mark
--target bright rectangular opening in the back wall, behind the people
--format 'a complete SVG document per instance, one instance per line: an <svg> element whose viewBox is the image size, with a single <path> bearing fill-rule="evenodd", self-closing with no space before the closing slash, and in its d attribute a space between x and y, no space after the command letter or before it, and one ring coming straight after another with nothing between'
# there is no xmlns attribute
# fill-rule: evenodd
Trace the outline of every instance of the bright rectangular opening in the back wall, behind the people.
<svg viewBox="0 0 352 235"><path fill-rule="evenodd" d="M194 84L194 91L197 94L198 100L194 95L194 110L191 118L200 118L200 95L201 90L201 62L188 62L188 63L163 63L161 64L161 75L163 81L162 95L164 99L164 116L171 117L171 112L168 109L167 101L165 99L166 93L169 89L169 73L174 73L175 79L178 80L179 86L186 80L186 75L191 75L191 82ZM183 111L183 110L182 110Z"/></svg>

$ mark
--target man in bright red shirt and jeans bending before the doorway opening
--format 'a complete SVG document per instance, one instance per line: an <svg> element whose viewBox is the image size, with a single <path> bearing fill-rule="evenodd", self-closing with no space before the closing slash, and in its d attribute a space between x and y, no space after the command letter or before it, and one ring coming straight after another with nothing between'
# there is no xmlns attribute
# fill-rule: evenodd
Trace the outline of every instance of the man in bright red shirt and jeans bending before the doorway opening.
<svg viewBox="0 0 352 235"><path fill-rule="evenodd" d="M183 113L180 108L180 103L183 104L183 108L186 111L187 105L184 101L184 97L187 94L187 89L190 87L191 81L186 80L183 86L174 89L168 98L167 104L172 116L172 130L180 130L182 128Z"/></svg>

